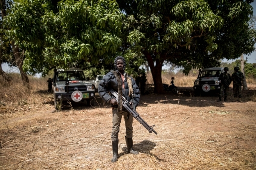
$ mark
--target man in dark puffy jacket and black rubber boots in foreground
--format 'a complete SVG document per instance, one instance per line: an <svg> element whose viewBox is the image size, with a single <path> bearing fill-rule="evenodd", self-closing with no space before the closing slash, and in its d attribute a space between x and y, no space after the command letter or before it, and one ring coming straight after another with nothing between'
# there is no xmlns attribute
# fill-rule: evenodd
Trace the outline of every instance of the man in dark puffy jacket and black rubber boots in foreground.
<svg viewBox="0 0 256 170"><path fill-rule="evenodd" d="M111 71L108 74L106 74L101 80L98 88L99 96L105 102L110 102L112 106L113 126L112 126L111 139L112 139L113 158L111 159L111 162L116 162L118 158L118 133L119 133L119 127L121 124L122 116L124 116L124 119L125 119L125 128L126 128L125 141L128 148L128 153L138 154L138 152L135 151L132 147L133 146L133 141L132 141L133 117L130 116L130 113L124 110L122 106L122 100L117 102L116 99L108 93L108 91L112 89L118 92L118 94L121 93L122 96L125 97L125 99L127 99L128 102L130 102L130 105L132 107L133 106L137 107L137 105L139 105L139 101L140 101L139 87L137 86L135 80L125 73L125 65L126 63L125 63L124 57L122 56L116 57L114 61L115 71ZM133 93L133 95L131 95L130 92Z"/></svg>

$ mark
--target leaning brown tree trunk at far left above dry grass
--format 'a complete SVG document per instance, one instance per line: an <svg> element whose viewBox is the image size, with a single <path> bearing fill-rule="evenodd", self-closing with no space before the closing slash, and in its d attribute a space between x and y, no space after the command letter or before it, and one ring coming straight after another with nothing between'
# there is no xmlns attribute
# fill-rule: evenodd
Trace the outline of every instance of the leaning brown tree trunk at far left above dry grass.
<svg viewBox="0 0 256 170"><path fill-rule="evenodd" d="M20 70L20 75L21 75L21 79L23 81L23 84L25 86L27 86L29 89L31 89L30 84L29 84L29 78L28 78L27 74L23 71L24 51L20 55L19 48L18 48L18 46L15 45L14 41L12 41L12 50L13 50L13 54L14 54L14 57L15 57L16 65Z"/></svg>

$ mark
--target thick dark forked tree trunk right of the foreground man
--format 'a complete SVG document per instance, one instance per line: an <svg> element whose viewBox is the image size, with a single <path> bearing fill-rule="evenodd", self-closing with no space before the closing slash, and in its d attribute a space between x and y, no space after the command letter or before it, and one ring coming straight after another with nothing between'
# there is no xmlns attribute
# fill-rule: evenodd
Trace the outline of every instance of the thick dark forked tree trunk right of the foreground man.
<svg viewBox="0 0 256 170"><path fill-rule="evenodd" d="M162 60L160 57L160 59L156 59L156 65L154 65L154 61L151 55L148 52L145 52L144 55L148 61L148 65L150 67L151 74L153 77L154 93L161 94L164 92L162 82L162 65L164 60Z"/></svg>

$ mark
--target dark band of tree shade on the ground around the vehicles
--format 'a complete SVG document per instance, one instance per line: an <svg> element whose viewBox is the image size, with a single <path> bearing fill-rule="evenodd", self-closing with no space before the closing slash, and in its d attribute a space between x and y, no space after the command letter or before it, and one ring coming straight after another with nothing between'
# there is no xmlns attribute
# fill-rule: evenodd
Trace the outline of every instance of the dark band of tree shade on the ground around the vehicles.
<svg viewBox="0 0 256 170"><path fill-rule="evenodd" d="M179 87L180 93L173 94L148 94L140 96L140 107L147 107L149 104L173 104L173 105L185 105L189 107L224 107L223 98L222 102L217 102L218 94L203 94L202 96L194 96L193 87ZM227 102L233 102L233 89L229 89L229 95L227 97ZM256 100L256 88L250 88L247 91L242 91L242 101L249 102ZM50 102L54 105L53 102ZM49 104L50 104L49 103ZM103 102L102 98L99 97L98 93L95 93L95 102L94 106L87 106L87 102L72 102L72 108L75 110L91 110L95 108L111 108L110 103ZM71 109L69 104L65 104L65 107L62 108L63 111L69 111Z"/></svg>

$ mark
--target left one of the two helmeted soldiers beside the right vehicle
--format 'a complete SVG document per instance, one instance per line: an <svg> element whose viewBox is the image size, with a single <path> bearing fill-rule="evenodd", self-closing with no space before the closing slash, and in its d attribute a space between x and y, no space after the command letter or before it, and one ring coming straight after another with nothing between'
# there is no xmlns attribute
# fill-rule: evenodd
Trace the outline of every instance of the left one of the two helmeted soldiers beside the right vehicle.
<svg viewBox="0 0 256 170"><path fill-rule="evenodd" d="M221 101L221 97L223 97L223 95L224 95L224 101L225 102L227 101L227 91L228 91L229 85L232 81L231 76L227 71L228 71L228 68L225 67L224 73L221 73L221 75L219 77L219 80L221 80L221 83L220 83L221 89L220 89L220 95L219 95L218 102Z"/></svg>

